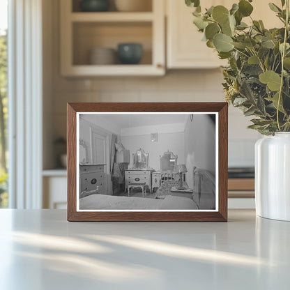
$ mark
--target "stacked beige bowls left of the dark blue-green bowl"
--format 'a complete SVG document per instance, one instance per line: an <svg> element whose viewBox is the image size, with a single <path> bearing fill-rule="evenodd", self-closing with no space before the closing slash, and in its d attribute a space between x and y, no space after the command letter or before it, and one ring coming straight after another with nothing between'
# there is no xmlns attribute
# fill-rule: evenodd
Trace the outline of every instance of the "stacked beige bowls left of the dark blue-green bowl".
<svg viewBox="0 0 290 290"><path fill-rule="evenodd" d="M113 48L95 47L90 50L89 63L92 65L112 65L116 59L116 50Z"/></svg>

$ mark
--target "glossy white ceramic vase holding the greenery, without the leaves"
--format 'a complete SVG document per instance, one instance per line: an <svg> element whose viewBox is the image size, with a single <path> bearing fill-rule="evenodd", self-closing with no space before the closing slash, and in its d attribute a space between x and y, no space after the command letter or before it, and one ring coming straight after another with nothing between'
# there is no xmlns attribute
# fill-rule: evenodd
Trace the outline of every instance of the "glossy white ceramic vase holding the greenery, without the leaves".
<svg viewBox="0 0 290 290"><path fill-rule="evenodd" d="M277 132L255 145L256 213L290 221L290 132Z"/></svg>

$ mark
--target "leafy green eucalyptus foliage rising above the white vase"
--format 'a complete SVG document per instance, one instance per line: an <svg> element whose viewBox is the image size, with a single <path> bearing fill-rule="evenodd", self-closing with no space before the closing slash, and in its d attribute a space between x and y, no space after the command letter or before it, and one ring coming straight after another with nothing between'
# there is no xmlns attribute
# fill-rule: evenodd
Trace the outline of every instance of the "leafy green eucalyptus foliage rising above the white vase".
<svg viewBox="0 0 290 290"><path fill-rule="evenodd" d="M282 10L275 4L270 5L283 23L282 28L272 29L264 29L263 24L254 20L252 1L243 1L241 5L240 1L231 10L222 5L213 6L211 15L202 13L199 6L194 13L197 17L194 24L199 31L204 31L201 29L204 24L211 25L207 26L206 38L212 41L213 49L228 61L223 84L227 100L231 100L234 107L241 107L247 114L256 116L258 119L253 121L252 128L262 134L290 132L290 93L287 89L290 81L290 49L287 47L290 39L290 0L282 0ZM199 0L185 2L192 6L192 3L197 5ZM231 17L236 17L236 13L240 13L238 17L241 19L247 17L252 20L252 23L244 25L236 22L232 27ZM229 29L233 33L229 33ZM265 123L266 119L271 122Z"/></svg>

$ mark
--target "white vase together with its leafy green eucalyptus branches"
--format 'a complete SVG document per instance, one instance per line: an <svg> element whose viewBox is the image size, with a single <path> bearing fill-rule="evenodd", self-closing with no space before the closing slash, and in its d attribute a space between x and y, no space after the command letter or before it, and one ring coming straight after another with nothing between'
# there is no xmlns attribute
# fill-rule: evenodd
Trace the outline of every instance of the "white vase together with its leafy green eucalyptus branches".
<svg viewBox="0 0 290 290"><path fill-rule="evenodd" d="M202 11L199 0L185 0L194 7L194 24L206 45L228 61L223 68L227 102L253 116L249 128L265 136L255 146L257 215L290 220L289 0L261 4L281 20L282 27L271 29L252 19L251 2Z"/></svg>

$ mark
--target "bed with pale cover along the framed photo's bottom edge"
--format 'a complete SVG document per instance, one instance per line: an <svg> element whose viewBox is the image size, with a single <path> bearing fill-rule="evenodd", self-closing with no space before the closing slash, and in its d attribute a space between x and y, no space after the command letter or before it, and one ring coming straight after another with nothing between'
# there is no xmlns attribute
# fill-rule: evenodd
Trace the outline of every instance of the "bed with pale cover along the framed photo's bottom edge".
<svg viewBox="0 0 290 290"><path fill-rule="evenodd" d="M91 194L79 199L80 210L194 210L196 203L186 197L167 195L164 199L115 197Z"/></svg>

